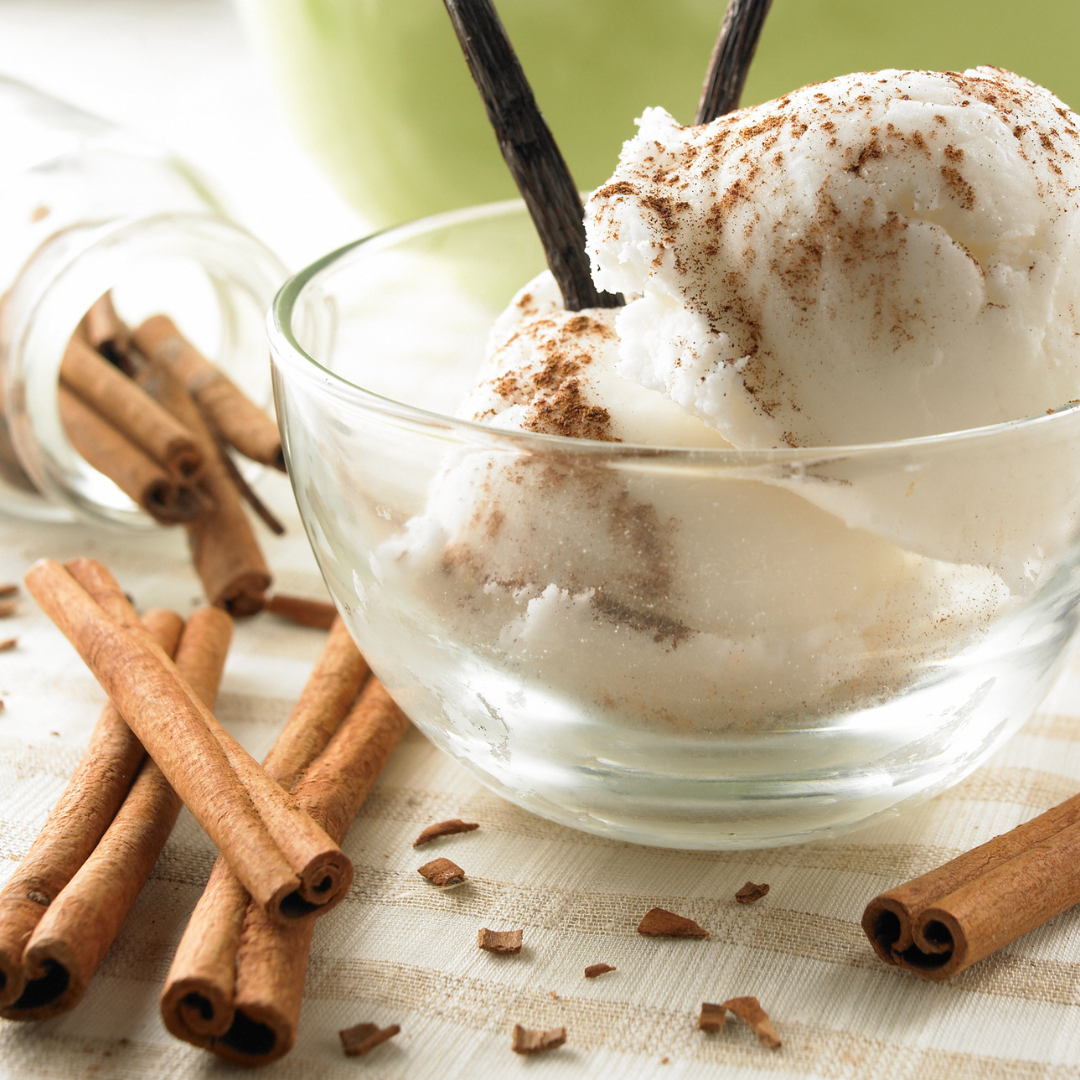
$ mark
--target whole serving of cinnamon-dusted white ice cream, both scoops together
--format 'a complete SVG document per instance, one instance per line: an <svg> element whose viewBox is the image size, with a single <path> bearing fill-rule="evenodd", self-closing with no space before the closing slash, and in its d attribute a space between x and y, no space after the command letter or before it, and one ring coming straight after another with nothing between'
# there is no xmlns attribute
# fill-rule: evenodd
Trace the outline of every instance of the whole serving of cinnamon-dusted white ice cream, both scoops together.
<svg viewBox="0 0 1080 1080"><path fill-rule="evenodd" d="M586 207L626 306L566 311L541 274L457 410L588 443L448 453L377 573L513 686L627 729L813 727L933 684L1080 524L1030 454L594 450L848 447L1080 396L1078 125L995 69L853 75L699 127L647 110Z"/></svg>

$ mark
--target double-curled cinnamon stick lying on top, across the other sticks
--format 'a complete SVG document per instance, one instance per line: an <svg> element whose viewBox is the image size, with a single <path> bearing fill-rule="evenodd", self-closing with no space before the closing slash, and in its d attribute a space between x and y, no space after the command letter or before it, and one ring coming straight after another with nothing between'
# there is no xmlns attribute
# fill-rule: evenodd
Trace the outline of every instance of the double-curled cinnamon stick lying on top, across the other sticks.
<svg viewBox="0 0 1080 1080"><path fill-rule="evenodd" d="M296 916L348 890L345 853L225 731L151 638L111 618L57 563L37 563L26 585L260 904Z"/></svg>

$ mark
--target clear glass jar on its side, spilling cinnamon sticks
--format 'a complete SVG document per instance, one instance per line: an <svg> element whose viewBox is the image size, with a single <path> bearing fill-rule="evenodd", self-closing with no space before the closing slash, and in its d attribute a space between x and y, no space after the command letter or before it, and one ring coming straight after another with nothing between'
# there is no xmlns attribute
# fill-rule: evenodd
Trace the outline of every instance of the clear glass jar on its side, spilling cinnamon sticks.
<svg viewBox="0 0 1080 1080"><path fill-rule="evenodd" d="M0 134L0 511L154 527L64 432L67 342L111 293L132 322L168 314L269 406L262 319L285 269L149 140L8 79Z"/></svg>

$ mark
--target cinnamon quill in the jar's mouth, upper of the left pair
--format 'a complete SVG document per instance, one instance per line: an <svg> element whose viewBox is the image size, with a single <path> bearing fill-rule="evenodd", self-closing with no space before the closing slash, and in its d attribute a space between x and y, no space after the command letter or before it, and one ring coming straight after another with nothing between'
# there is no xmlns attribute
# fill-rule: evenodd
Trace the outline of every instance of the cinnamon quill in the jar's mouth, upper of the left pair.
<svg viewBox="0 0 1080 1080"><path fill-rule="evenodd" d="M60 380L177 481L203 471L194 435L78 335L64 352Z"/></svg>

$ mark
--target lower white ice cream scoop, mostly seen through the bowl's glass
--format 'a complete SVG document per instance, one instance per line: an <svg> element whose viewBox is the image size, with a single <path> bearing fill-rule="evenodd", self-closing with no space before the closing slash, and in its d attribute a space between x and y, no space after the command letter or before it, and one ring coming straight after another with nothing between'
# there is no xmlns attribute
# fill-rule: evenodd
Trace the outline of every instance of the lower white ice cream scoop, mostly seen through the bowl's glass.
<svg viewBox="0 0 1080 1080"><path fill-rule="evenodd" d="M615 370L613 319L565 311L544 274L496 323L458 415L589 442L448 454L373 563L418 624L436 611L551 700L702 732L888 694L1000 610L993 573L906 553L738 461L612 454L727 446Z"/></svg>

